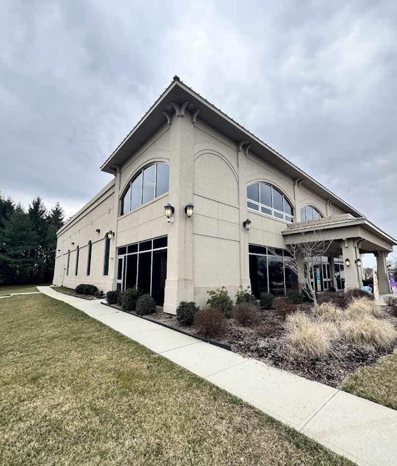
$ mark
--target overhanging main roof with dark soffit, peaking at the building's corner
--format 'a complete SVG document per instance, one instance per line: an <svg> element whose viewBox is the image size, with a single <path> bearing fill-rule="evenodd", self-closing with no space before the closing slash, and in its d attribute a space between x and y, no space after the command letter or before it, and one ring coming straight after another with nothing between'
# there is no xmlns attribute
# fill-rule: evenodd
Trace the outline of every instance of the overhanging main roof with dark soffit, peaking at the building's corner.
<svg viewBox="0 0 397 466"><path fill-rule="evenodd" d="M276 166L286 175L294 179L299 179L307 188L319 194L321 197L332 201L332 205L335 207L353 215L354 217L364 217L360 212L333 194L321 183L298 168L287 158L278 154L257 136L250 133L242 125L235 122L232 118L201 97L197 92L184 84L178 76L173 78L171 84L149 108L146 114L132 129L130 134L127 135L119 147L105 161L101 166L101 170L108 173L114 173L112 166L122 165L127 161L157 130L167 122L164 112L171 116L175 111L171 106L171 102L181 105L186 101L189 102L189 105L194 105L193 110L191 110L188 105L186 112L190 111L191 113L194 113L199 109L198 118L207 125L215 128L217 131L236 143L246 141L251 145L249 150L251 153L258 155L271 165ZM167 106L169 107L168 109Z"/></svg>

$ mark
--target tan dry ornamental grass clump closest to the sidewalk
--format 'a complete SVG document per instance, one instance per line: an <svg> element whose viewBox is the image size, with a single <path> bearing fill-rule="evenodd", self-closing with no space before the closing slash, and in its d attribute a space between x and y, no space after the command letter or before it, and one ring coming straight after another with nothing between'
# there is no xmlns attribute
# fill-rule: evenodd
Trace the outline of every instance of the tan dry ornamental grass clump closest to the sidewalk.
<svg viewBox="0 0 397 466"><path fill-rule="evenodd" d="M301 312L287 318L287 330L293 351L310 358L325 358L331 351L332 341L339 336L333 323L313 322Z"/></svg>

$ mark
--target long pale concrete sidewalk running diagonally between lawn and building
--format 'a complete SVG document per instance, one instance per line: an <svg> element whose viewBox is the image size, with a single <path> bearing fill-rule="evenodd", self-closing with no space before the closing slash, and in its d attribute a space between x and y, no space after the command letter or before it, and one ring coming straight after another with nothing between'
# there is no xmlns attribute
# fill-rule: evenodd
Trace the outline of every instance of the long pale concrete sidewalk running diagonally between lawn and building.
<svg viewBox="0 0 397 466"><path fill-rule="evenodd" d="M266 366L126 312L39 291L85 312L362 466L397 465L397 411Z"/></svg>

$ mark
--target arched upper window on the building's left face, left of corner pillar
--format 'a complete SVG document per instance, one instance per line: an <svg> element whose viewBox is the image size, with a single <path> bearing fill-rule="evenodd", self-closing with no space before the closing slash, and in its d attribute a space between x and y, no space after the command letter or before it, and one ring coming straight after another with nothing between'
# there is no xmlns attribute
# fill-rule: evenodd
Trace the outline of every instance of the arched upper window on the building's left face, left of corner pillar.
<svg viewBox="0 0 397 466"><path fill-rule="evenodd" d="M120 215L161 196L168 191L170 165L157 162L141 170L128 184L121 198Z"/></svg>

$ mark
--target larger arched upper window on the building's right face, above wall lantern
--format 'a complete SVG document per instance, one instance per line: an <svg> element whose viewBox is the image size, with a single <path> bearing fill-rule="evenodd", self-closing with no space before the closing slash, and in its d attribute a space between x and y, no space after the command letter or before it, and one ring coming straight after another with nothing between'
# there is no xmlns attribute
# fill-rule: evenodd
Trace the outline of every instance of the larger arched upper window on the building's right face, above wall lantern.
<svg viewBox="0 0 397 466"><path fill-rule="evenodd" d="M294 210L284 194L267 183L254 183L247 187L247 206L276 219L294 221Z"/></svg>

